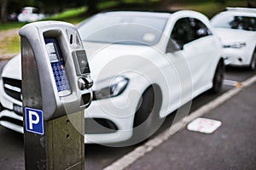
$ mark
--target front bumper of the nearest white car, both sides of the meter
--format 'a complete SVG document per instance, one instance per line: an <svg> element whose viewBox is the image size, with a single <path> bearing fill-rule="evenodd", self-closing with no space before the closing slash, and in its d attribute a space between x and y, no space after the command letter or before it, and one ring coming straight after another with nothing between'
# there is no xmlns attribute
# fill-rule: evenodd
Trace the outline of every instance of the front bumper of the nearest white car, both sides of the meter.
<svg viewBox="0 0 256 170"><path fill-rule="evenodd" d="M3 92L0 97L3 102L0 124L16 132L24 133L22 113L15 112L16 103L19 105L22 103L5 94L1 82L0 88ZM90 107L84 111L84 143L112 144L131 138L137 102L130 102L125 95L128 94L92 101Z"/></svg>

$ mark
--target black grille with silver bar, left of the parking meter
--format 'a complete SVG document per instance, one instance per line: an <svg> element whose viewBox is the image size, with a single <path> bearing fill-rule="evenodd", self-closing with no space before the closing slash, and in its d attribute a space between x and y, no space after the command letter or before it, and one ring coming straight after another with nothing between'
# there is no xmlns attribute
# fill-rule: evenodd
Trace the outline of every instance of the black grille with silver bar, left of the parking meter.
<svg viewBox="0 0 256 170"><path fill-rule="evenodd" d="M5 93L10 97L19 101L22 100L20 80L3 77L3 88Z"/></svg>

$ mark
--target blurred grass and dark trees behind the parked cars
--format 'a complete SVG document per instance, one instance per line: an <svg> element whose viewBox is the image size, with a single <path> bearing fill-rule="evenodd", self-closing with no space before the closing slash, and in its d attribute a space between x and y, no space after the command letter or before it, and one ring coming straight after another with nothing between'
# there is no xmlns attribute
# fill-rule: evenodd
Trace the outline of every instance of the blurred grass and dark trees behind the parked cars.
<svg viewBox="0 0 256 170"><path fill-rule="evenodd" d="M211 18L226 7L255 7L254 0L0 0L0 56L20 52L18 29L36 20L79 24L92 14L108 10L173 11L191 9Z"/></svg>

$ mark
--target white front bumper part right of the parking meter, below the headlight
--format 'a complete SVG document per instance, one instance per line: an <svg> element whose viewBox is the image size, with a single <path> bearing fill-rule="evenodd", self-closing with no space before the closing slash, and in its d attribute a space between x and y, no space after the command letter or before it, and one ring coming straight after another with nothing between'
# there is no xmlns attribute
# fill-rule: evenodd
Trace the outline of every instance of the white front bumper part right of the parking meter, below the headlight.
<svg viewBox="0 0 256 170"><path fill-rule="evenodd" d="M129 102L125 94L93 101L84 111L84 143L111 144L130 139L136 108L137 102Z"/></svg>

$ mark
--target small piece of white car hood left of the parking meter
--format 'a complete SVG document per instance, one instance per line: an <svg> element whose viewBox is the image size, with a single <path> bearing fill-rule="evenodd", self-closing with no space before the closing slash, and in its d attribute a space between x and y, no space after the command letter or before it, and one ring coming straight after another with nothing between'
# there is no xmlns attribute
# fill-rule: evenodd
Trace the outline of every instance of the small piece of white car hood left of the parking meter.
<svg viewBox="0 0 256 170"><path fill-rule="evenodd" d="M13 59L4 65L2 77L10 77L21 80L21 56L16 55Z"/></svg>

